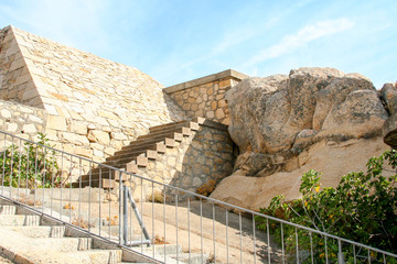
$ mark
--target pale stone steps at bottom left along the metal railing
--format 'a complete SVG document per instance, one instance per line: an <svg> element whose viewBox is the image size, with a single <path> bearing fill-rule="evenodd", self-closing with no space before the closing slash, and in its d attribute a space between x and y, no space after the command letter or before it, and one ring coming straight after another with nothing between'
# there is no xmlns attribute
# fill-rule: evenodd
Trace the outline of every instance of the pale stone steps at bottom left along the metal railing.
<svg viewBox="0 0 397 264"><path fill-rule="evenodd" d="M136 251L171 264L198 264L207 260L206 255L183 253L181 245L157 244L154 248L137 246ZM1 198L0 253L12 263L21 264L157 263Z"/></svg>

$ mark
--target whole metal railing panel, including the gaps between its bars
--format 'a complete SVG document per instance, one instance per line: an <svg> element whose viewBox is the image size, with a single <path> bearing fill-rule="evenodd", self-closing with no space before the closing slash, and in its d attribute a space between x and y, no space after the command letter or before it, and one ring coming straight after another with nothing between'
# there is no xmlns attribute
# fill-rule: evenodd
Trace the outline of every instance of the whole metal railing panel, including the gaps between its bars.
<svg viewBox="0 0 397 264"><path fill-rule="evenodd" d="M158 263L396 263L397 255L0 132L0 196ZM116 185L112 179L122 179ZM114 188L103 188L103 183ZM107 186L109 187L109 186ZM132 210L128 210L129 206ZM259 230L258 219L266 224ZM292 230L293 237L286 237Z"/></svg>

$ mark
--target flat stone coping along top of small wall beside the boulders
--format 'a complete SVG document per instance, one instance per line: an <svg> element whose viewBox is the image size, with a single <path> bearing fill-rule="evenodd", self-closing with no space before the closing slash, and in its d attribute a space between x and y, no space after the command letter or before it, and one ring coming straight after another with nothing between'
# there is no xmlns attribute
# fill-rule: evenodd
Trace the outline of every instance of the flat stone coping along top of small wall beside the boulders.
<svg viewBox="0 0 397 264"><path fill-rule="evenodd" d="M170 86L163 89L163 91L165 94L172 94L175 91L180 91L180 90L184 90L184 89L189 89L191 87L194 86L200 86L200 85L204 85L211 81L215 81L215 80L219 80L219 79L224 79L227 77L232 77L232 78L236 78L236 79L245 79L247 77L249 77L248 75L242 74L237 70L234 69L226 69L224 72L217 73L217 74L213 74L213 75L208 75L208 76L204 76L197 79L193 79L190 81L185 81L179 85L174 85L174 86Z"/></svg>

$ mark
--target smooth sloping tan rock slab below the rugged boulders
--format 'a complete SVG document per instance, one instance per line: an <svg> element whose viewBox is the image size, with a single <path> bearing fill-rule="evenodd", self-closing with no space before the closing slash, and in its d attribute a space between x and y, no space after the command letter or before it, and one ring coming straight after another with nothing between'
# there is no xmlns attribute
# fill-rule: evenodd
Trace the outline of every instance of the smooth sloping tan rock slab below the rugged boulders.
<svg viewBox="0 0 397 264"><path fill-rule="evenodd" d="M322 187L335 187L343 175L366 172L368 158L388 148L380 136L341 143L324 140L290 160L288 165L291 170L276 172L267 177L249 177L239 169L223 179L211 197L259 210L267 207L277 195L285 195L287 200L299 198L301 176L309 169L321 173Z"/></svg>

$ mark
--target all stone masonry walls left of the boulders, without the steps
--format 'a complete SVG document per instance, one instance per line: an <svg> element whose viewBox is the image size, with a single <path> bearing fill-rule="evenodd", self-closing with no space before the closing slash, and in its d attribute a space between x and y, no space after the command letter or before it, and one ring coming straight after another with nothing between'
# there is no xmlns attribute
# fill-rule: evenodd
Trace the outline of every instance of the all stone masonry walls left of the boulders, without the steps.
<svg viewBox="0 0 397 264"><path fill-rule="evenodd" d="M163 89L133 67L7 26L0 30L0 125L30 140L43 132L55 148L101 163L151 127L204 117L200 132L137 172L195 191L232 173L224 96L246 77L229 69ZM73 180L92 168L63 158Z"/></svg>

